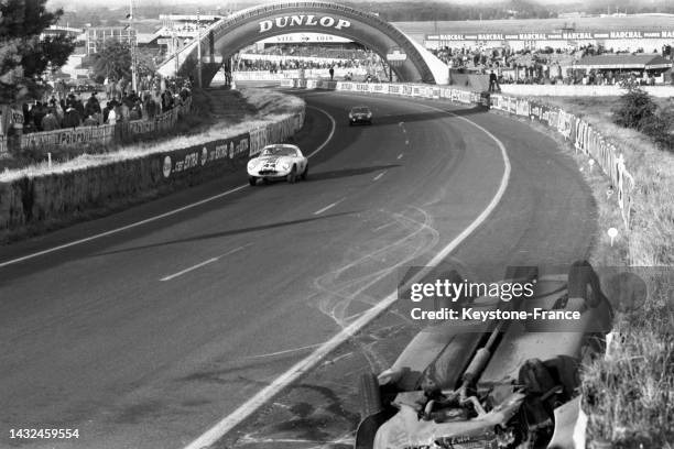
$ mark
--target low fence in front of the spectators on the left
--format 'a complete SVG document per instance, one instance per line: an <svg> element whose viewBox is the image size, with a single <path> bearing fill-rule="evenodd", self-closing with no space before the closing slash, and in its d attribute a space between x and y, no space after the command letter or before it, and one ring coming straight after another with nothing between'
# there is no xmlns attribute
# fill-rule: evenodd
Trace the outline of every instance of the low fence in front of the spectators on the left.
<svg viewBox="0 0 674 449"><path fill-rule="evenodd" d="M21 135L20 151L33 150L46 154L50 149L58 146L108 145L129 142L133 138L153 133L160 135L172 130L178 119L191 110L192 97L187 97L183 105L162 112L151 120L32 132Z"/></svg>

